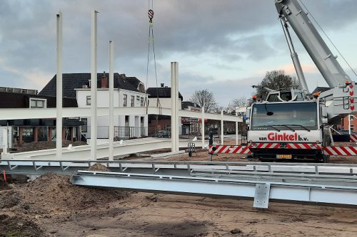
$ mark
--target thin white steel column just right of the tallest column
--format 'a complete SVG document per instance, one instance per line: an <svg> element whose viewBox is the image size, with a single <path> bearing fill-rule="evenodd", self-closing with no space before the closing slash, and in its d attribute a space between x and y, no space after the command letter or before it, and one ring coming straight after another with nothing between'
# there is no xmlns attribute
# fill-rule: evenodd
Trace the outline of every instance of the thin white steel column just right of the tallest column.
<svg viewBox="0 0 357 237"><path fill-rule="evenodd" d="M109 41L109 160L114 160L114 42Z"/></svg>

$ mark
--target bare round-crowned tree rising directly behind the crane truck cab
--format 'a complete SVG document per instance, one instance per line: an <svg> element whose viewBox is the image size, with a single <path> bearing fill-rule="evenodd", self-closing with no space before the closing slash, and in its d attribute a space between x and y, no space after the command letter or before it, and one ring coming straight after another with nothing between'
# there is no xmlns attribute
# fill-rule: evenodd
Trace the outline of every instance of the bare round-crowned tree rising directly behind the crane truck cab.
<svg viewBox="0 0 357 237"><path fill-rule="evenodd" d="M268 92L264 88L272 90L281 89L301 89L301 85L296 78L286 75L284 70L272 70L266 72L261 83L256 86L256 95L258 98L265 99Z"/></svg>

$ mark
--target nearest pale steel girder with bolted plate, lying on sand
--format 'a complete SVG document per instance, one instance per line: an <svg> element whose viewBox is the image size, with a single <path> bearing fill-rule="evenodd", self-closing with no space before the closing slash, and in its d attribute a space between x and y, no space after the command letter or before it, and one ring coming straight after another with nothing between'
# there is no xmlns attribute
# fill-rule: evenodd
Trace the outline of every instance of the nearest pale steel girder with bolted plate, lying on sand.
<svg viewBox="0 0 357 237"><path fill-rule="evenodd" d="M253 206L268 208L269 200L308 204L357 205L357 187L341 183L301 184L221 177L182 177L158 174L76 172L72 184L97 188L129 189L155 193L223 196L254 199Z"/></svg>

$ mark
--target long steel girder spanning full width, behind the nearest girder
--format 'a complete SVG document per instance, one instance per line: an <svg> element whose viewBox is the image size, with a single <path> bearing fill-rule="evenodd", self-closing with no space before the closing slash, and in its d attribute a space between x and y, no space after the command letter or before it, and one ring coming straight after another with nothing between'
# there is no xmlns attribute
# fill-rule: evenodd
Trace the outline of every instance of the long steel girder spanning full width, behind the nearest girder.
<svg viewBox="0 0 357 237"><path fill-rule="evenodd" d="M210 174L226 176L249 176L258 179L263 174L273 179L316 179L311 175L323 175L324 179L336 177L356 178L356 164L298 164L298 163L257 163L257 162L169 162L169 161L69 161L69 160L0 160L0 172L6 174L41 175L47 172L73 174L88 169L94 164L102 164L112 172L141 174L171 174L179 176L206 176ZM309 176L308 176L309 175Z"/></svg>

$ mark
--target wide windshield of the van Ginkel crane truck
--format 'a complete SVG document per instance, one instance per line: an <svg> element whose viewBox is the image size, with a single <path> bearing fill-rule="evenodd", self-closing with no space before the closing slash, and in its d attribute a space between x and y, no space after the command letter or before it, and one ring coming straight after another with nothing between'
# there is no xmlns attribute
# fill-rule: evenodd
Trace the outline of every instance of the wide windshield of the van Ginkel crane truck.
<svg viewBox="0 0 357 237"><path fill-rule="evenodd" d="M298 127L317 127L316 102L292 102L292 103L264 103L253 105L251 115L251 128L266 126L290 125L294 129Z"/></svg>

